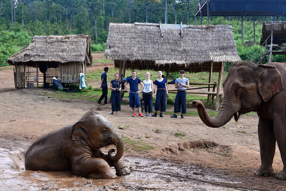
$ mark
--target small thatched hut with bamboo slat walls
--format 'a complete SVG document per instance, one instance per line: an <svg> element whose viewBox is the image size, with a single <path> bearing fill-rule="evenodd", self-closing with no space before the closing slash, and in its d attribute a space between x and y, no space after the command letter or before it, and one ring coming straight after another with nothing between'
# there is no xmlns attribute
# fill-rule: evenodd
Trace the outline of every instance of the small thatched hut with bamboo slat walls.
<svg viewBox="0 0 286 191"><path fill-rule="evenodd" d="M90 44L88 34L34 36L29 46L6 61L15 65L15 88L48 88L53 77L65 86L79 86L80 73L86 74L86 66L92 66Z"/></svg>

